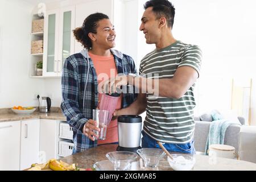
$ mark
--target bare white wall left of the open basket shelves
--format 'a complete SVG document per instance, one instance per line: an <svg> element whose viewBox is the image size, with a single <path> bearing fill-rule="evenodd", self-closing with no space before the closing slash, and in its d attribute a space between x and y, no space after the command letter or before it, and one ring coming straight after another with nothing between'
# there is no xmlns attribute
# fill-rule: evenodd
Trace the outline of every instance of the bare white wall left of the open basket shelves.
<svg viewBox="0 0 256 182"><path fill-rule="evenodd" d="M38 105L34 94L40 93L44 88L43 80L28 76L31 8L18 0L0 0L0 108Z"/></svg>

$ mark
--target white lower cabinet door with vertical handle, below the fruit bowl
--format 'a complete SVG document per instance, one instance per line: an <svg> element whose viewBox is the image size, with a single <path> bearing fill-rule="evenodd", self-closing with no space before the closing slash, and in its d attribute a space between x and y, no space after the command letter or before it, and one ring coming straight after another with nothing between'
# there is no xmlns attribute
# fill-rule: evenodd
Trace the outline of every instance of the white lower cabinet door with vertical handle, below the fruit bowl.
<svg viewBox="0 0 256 182"><path fill-rule="evenodd" d="M39 160L40 119L21 121L20 170L31 167Z"/></svg>

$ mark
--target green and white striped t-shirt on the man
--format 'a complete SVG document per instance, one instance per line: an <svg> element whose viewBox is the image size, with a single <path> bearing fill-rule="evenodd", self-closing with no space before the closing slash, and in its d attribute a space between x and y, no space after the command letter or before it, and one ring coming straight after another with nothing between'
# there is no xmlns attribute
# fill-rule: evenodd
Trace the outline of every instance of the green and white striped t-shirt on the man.
<svg viewBox="0 0 256 182"><path fill-rule="evenodd" d="M198 73L201 50L198 46L176 41L143 57L139 74L147 78L172 78L177 68L192 67ZM155 75L156 74L156 75ZM147 95L143 130L150 137L165 143L188 143L193 138L195 122L193 109L195 84L179 99Z"/></svg>

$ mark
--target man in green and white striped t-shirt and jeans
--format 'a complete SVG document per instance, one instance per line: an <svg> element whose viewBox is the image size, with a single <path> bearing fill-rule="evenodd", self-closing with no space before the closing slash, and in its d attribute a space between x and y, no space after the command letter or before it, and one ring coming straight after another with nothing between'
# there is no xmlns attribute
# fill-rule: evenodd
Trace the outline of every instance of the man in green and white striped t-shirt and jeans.
<svg viewBox="0 0 256 182"><path fill-rule="evenodd" d="M132 84L140 90L133 104L114 115L141 114L146 110L142 147L160 148L160 141L167 150L194 154L194 89L201 67L201 50L172 36L175 8L171 2L147 1L144 9L139 30L143 31L146 43L155 44L156 49L143 57L141 76L118 77L110 84L112 89ZM149 92L150 85L154 93Z"/></svg>

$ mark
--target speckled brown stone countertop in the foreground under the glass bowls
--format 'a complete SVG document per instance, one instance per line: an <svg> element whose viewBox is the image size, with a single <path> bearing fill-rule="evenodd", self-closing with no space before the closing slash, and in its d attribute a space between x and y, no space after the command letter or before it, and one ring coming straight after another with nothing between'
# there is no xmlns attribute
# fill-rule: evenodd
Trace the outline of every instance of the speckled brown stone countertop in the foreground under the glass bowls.
<svg viewBox="0 0 256 182"><path fill-rule="evenodd" d="M65 158L61 158L66 163L78 164L80 168L91 168L93 164L100 160L107 160L106 153L115 151L117 144L106 144L89 150L79 152L75 155L69 155ZM193 167L193 171L244 171L253 170L256 171L256 164L246 162L243 160L216 158L213 160L207 155L195 155L196 164ZM172 171L168 161L167 155L159 162L159 170Z"/></svg>

